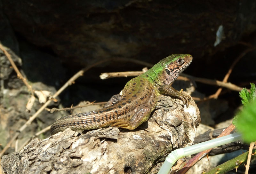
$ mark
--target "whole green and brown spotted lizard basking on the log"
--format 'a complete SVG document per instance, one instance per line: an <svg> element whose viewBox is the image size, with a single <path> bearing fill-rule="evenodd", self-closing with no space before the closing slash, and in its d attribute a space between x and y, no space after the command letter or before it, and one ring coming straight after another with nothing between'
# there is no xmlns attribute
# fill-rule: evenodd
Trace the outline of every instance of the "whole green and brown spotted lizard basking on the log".
<svg viewBox="0 0 256 174"><path fill-rule="evenodd" d="M122 95L114 95L102 109L64 116L52 123L51 133L67 128L89 130L107 126L133 130L148 120L159 94L180 98L188 105L190 96L176 91L170 83L191 62L192 56L189 54L173 54L160 60L147 72L126 83Z"/></svg>

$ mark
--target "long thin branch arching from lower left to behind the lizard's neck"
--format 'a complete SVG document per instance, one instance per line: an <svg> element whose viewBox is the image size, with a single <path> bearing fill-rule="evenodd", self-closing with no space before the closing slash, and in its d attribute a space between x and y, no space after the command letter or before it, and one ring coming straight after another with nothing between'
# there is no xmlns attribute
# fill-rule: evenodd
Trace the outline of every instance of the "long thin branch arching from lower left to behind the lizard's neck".
<svg viewBox="0 0 256 174"><path fill-rule="evenodd" d="M96 62L94 64L91 64L85 68L83 68L82 70L78 71L75 75L73 75L53 96L52 98L56 98L62 91L64 91L69 85L73 84L74 81L82 76L84 74L84 72L86 72L87 70L91 69L92 67L95 67L97 65L100 65L102 63L108 62L108 61L126 61L126 62L134 62L137 64L141 64L141 65L146 65L151 67L152 64L149 64L147 62L143 62L140 60L134 60L134 59L128 59L128 58L110 58L110 59L105 59L105 60L101 60L99 62ZM0 153L0 158L3 156L3 154L6 152L6 150L11 146L12 142L20 135L20 132L22 132L28 125L30 125L34 119L51 103L52 100L48 100L44 103L44 105L42 107L40 107L36 113L34 115L32 115L28 121L20 127L20 129L13 135L13 137L11 138L11 140L6 144L6 146L4 147L4 149L1 151Z"/></svg>

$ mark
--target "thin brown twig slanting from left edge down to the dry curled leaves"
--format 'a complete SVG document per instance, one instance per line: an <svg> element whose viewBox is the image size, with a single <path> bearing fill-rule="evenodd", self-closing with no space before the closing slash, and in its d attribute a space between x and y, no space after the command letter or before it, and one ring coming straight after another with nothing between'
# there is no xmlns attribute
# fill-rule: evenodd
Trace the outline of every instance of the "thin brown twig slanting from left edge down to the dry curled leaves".
<svg viewBox="0 0 256 174"><path fill-rule="evenodd" d="M0 49L4 52L7 59L10 61L14 71L17 73L17 77L23 81L23 83L28 87L28 91L31 92L31 95L34 96L34 91L32 87L28 84L27 79L23 77L23 75L20 73L19 69L15 65L14 61L12 60L11 55L4 49L4 46L0 43Z"/></svg>

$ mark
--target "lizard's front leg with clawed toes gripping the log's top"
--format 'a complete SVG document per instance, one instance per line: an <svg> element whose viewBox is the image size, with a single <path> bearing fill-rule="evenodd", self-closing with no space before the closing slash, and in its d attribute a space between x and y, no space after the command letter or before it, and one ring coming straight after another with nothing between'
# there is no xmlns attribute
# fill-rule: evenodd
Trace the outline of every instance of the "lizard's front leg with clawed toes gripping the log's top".
<svg viewBox="0 0 256 174"><path fill-rule="evenodd" d="M168 94L172 97L180 98L183 101L183 103L186 104L186 105L188 105L188 101L191 99L190 95L182 94L181 93L182 91L178 92L171 85L168 85L168 84L161 85L158 88L158 90L159 90L160 94L166 93L166 94Z"/></svg>

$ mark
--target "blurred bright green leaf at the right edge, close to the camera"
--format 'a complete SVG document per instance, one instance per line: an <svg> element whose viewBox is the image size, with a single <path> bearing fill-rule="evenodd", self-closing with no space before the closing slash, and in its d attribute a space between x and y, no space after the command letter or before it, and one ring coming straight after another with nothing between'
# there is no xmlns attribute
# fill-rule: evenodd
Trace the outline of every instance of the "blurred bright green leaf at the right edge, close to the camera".
<svg viewBox="0 0 256 174"><path fill-rule="evenodd" d="M242 111L234 118L236 129L243 134L244 141L256 141L256 100L246 104Z"/></svg>

